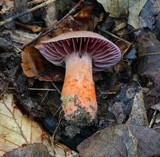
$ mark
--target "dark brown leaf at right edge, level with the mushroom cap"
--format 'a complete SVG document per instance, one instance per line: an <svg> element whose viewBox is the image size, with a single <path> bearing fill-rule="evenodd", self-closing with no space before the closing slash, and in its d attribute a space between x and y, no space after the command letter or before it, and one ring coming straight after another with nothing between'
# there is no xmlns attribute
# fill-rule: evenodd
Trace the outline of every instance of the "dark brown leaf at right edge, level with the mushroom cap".
<svg viewBox="0 0 160 157"><path fill-rule="evenodd" d="M160 83L160 42L151 32L141 32L137 39L138 64L137 73L151 78L156 84Z"/></svg>

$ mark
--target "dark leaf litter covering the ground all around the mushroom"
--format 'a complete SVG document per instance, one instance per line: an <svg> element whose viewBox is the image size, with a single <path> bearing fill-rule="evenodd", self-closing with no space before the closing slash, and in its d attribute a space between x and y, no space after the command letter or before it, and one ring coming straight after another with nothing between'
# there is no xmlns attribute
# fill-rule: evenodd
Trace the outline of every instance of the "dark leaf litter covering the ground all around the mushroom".
<svg viewBox="0 0 160 157"><path fill-rule="evenodd" d="M23 2L0 2L1 155L160 155L159 1ZM65 71L37 50L76 30L95 31L122 53L116 66L94 73L98 113L85 128L64 120Z"/></svg>

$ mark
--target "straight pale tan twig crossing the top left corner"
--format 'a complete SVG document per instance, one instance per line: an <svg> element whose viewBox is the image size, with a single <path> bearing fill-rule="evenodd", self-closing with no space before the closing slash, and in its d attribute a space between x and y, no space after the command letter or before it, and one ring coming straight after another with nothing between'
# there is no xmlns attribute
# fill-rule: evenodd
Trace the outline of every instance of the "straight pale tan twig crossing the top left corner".
<svg viewBox="0 0 160 157"><path fill-rule="evenodd" d="M19 18L19 17L21 17L21 16L23 16L25 14L33 12L33 11L35 11L37 9L42 8L42 7L45 7L46 5L48 5L48 4L50 4L50 3L54 2L54 1L55 0L48 0L47 2L41 3L40 5L37 5L37 6L33 7L33 8L31 8L31 9L28 9L27 11L24 11L24 12L22 12L20 14L17 14L15 16L13 16L13 17L10 17L10 18L6 19L5 21L0 22L0 26L3 26L3 25L5 25L5 24L7 24L9 22L12 22L13 20L15 20L15 19L17 19L17 18Z"/></svg>

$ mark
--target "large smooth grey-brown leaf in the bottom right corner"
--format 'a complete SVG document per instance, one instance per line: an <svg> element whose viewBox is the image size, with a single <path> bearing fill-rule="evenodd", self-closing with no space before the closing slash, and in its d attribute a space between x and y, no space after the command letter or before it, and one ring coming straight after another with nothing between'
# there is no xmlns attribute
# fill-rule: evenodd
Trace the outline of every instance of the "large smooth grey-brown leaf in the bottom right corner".
<svg viewBox="0 0 160 157"><path fill-rule="evenodd" d="M135 125L105 128L79 146L81 157L150 157L160 155L160 134L153 129Z"/></svg>

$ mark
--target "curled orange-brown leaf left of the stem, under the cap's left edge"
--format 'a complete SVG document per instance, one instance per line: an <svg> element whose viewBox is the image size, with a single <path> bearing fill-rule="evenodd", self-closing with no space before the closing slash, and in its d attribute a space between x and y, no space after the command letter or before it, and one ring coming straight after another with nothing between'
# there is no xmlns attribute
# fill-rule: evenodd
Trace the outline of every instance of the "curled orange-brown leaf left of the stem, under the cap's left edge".
<svg viewBox="0 0 160 157"><path fill-rule="evenodd" d="M49 63L34 46L26 47L21 57L21 66L26 76L37 77L40 81L63 80L64 69ZM49 69L51 69L51 71L46 73Z"/></svg>

